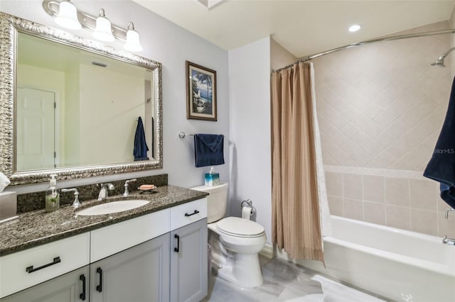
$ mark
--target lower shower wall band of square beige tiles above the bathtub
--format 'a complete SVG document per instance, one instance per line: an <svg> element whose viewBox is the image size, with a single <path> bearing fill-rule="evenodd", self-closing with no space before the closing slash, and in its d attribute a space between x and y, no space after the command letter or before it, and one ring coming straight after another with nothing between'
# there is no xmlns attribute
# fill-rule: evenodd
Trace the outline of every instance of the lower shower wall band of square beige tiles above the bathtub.
<svg viewBox="0 0 455 302"><path fill-rule="evenodd" d="M439 186L417 173L382 176L383 170L355 168L349 173L327 167L331 214L428 235L455 237L455 219L444 218L447 204ZM376 171L375 171L376 170ZM386 173L387 174L387 173ZM407 173L410 174L410 173Z"/></svg>

